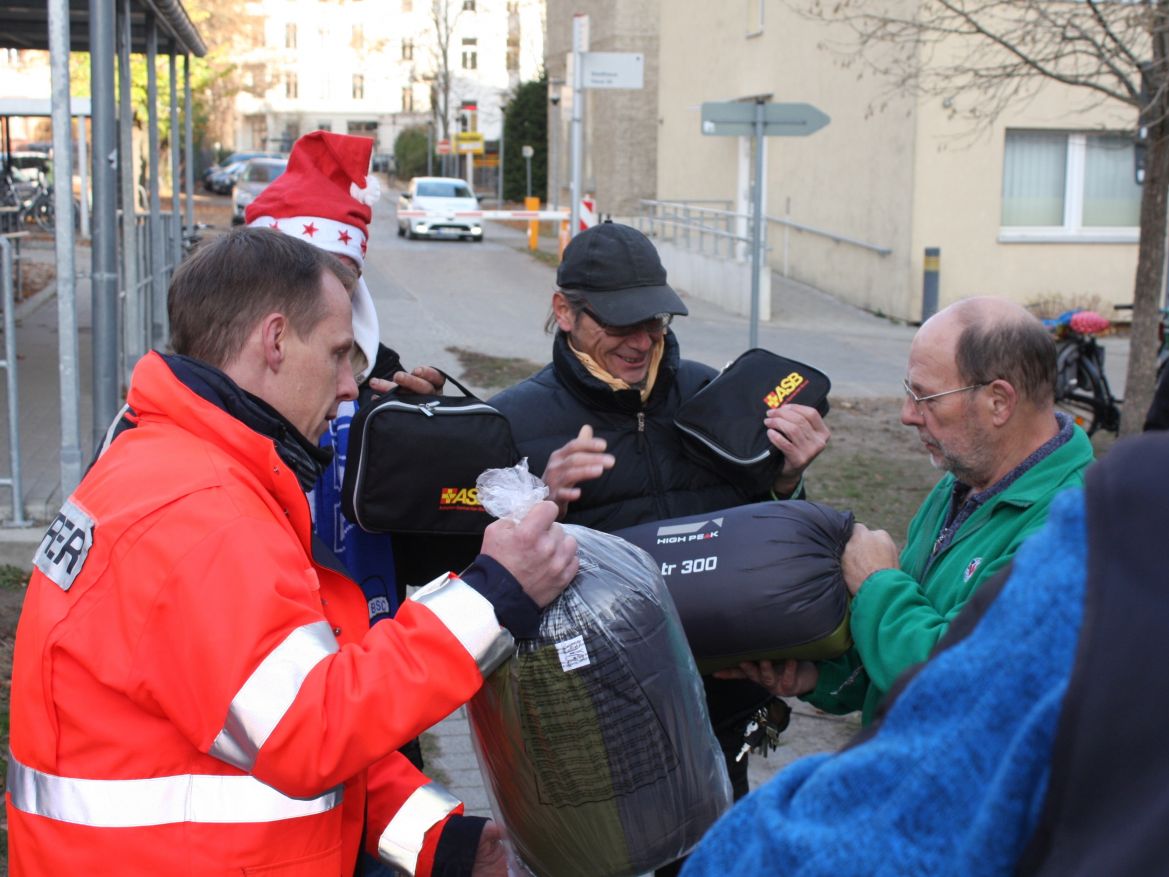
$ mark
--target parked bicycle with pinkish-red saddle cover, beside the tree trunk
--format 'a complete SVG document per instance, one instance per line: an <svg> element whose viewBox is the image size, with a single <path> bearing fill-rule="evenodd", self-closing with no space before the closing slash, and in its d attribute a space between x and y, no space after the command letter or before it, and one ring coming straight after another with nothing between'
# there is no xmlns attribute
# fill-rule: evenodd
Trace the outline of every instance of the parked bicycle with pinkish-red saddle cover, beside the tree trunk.
<svg viewBox="0 0 1169 877"><path fill-rule="evenodd" d="M1120 431L1120 405L1104 371L1104 347L1097 336L1112 324L1094 311L1073 310L1044 325L1056 338L1056 408L1092 435Z"/></svg>

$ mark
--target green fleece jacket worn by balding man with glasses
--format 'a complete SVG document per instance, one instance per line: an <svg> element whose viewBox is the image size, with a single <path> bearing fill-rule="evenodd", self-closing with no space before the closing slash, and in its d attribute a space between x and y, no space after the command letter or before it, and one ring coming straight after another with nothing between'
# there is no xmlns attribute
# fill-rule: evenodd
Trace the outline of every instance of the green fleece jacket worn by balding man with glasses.
<svg viewBox="0 0 1169 877"><path fill-rule="evenodd" d="M1051 500L1084 483L1092 460L1092 442L1074 427L1067 442L980 506L931 561L954 491L947 474L909 522L900 568L873 573L852 600L853 648L819 665L819 682L804 699L826 712L863 710L867 725L897 677L929 656L970 595L1043 525Z"/></svg>

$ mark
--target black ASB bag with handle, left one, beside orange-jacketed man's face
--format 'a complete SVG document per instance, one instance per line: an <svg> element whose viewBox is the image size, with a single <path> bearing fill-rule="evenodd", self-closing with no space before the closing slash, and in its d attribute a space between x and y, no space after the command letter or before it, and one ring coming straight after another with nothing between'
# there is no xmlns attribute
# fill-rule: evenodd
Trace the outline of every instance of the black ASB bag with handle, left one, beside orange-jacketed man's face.
<svg viewBox="0 0 1169 877"><path fill-rule="evenodd" d="M362 530L394 534L400 587L475 558L492 522L475 481L485 469L519 462L507 419L443 377L463 395L393 391L350 423L341 510Z"/></svg>

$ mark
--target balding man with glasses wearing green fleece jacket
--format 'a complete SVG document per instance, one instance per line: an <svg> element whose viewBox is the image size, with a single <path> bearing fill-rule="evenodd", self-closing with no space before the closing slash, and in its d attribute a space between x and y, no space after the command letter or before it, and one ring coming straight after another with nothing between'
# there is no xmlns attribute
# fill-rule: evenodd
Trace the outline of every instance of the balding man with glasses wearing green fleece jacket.
<svg viewBox="0 0 1169 877"><path fill-rule="evenodd" d="M1008 566L1051 500L1084 483L1092 443L1054 408L1056 346L1016 304L968 298L914 336L901 422L946 474L899 553L858 524L843 558L855 645L821 664L745 664L735 676L869 724L894 679L925 661L982 582Z"/></svg>

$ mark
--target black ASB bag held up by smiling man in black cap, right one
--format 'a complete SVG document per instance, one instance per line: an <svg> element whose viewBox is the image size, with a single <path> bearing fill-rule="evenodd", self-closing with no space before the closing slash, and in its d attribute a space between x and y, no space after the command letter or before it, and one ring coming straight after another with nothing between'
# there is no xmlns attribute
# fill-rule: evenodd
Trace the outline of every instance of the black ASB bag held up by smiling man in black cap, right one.
<svg viewBox="0 0 1169 877"><path fill-rule="evenodd" d="M783 455L767 440L763 417L788 402L828 414L828 375L761 347L747 351L687 399L673 419L686 453L747 488L770 484Z"/></svg>

